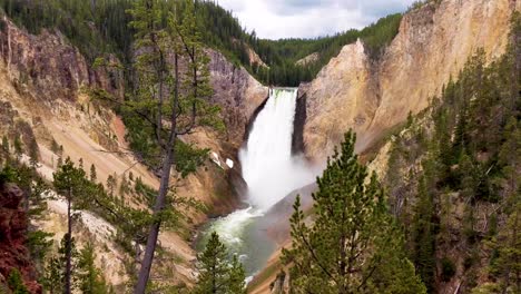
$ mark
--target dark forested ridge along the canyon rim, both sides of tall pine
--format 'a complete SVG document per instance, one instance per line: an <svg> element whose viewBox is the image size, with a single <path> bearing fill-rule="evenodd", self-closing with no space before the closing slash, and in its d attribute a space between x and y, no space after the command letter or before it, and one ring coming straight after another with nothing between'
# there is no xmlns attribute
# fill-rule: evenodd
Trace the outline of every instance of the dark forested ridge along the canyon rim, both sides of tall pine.
<svg viewBox="0 0 521 294"><path fill-rule="evenodd" d="M0 0L0 8L17 24L32 33L42 28L58 29L81 52L94 61L106 53L115 53L125 63L132 55L134 29L128 27L127 13L134 0ZM343 46L361 38L373 58L397 33L400 13L382 18L362 30L348 30L316 39L266 40L257 38L255 31L246 31L230 11L214 1L197 0L196 18L201 28L204 43L223 52L236 66L244 66L265 85L298 86L311 81L331 58L338 55ZM181 1L168 0L160 3L163 24L169 12L184 13ZM249 50L258 53L266 63L249 60ZM316 60L305 65L297 61L308 55L318 53Z"/></svg>

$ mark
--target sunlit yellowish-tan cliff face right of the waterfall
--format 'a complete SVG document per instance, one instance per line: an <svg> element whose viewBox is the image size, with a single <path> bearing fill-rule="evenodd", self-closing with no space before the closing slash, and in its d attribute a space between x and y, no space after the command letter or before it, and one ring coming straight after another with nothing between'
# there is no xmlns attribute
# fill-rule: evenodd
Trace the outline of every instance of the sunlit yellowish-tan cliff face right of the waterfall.
<svg viewBox="0 0 521 294"><path fill-rule="evenodd" d="M353 128L364 150L392 126L441 92L478 48L490 60L505 48L512 0L443 0L405 13L400 32L379 60L362 42L345 46L303 85L307 96L306 155L324 160Z"/></svg>

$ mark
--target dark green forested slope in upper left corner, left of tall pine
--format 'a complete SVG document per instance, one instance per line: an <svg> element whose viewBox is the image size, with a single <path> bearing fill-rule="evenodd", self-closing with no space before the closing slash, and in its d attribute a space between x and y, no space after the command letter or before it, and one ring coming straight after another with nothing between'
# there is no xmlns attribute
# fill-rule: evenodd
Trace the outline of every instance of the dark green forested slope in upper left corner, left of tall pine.
<svg viewBox="0 0 521 294"><path fill-rule="evenodd" d="M118 53L126 59L131 30L125 9L131 0L0 0L0 8L32 33L41 29L60 30L89 59ZM128 56L129 57L129 56Z"/></svg>

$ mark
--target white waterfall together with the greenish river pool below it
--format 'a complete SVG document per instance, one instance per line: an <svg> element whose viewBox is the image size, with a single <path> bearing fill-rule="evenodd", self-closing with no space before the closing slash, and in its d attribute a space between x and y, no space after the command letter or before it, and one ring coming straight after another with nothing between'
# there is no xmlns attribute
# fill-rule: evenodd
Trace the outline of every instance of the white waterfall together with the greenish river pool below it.
<svg viewBox="0 0 521 294"><path fill-rule="evenodd" d="M258 220L291 192L313 183L317 174L302 157L292 155L296 99L296 89L271 90L239 150L249 207L208 223L197 242L198 249L204 249L212 232L219 234L248 276L263 268L276 248Z"/></svg>

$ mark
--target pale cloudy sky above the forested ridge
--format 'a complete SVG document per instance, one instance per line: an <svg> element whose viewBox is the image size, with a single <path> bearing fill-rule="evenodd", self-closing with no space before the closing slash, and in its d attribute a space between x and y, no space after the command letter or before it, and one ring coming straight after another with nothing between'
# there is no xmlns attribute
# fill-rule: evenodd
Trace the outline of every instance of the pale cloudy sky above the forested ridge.
<svg viewBox="0 0 521 294"><path fill-rule="evenodd" d="M414 0L217 0L248 31L267 39L314 38L360 29Z"/></svg>

